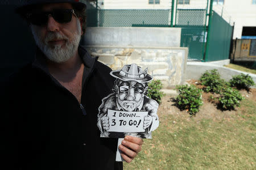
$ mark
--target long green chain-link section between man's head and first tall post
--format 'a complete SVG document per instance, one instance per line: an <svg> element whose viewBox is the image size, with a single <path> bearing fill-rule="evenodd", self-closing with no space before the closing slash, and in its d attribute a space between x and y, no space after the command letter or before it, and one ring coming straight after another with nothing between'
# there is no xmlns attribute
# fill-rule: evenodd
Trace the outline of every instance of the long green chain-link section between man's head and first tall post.
<svg viewBox="0 0 256 170"><path fill-rule="evenodd" d="M171 10L89 10L89 27L134 27L138 25L168 25ZM97 16L98 15L98 16ZM93 22L94 21L94 22Z"/></svg>

